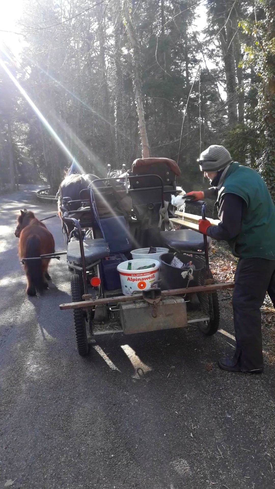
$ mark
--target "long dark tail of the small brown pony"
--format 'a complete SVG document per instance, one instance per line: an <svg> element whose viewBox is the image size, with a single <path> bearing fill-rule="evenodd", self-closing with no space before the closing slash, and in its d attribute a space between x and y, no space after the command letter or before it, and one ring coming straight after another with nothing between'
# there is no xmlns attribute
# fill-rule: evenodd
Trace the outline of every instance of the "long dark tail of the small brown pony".
<svg viewBox="0 0 275 489"><path fill-rule="evenodd" d="M40 240L37 236L32 235L27 239L26 258L36 258L41 255ZM45 289L44 276L42 269L42 260L28 260L26 263L26 273L30 281L38 292L42 293Z"/></svg>

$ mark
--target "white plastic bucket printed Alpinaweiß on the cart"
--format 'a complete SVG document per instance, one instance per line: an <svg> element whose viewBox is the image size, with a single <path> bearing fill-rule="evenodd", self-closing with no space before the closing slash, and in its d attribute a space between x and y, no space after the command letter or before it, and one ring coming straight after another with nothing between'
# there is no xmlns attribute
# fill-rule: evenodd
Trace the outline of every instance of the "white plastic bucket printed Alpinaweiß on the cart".
<svg viewBox="0 0 275 489"><path fill-rule="evenodd" d="M151 256L151 255L150 255ZM127 270L128 263L132 262L132 268L146 267L155 263L155 267L145 268L144 270ZM138 260L128 260L117 265L117 271L120 276L122 293L124 295L132 295L133 292L142 292L142 290L150 289L153 282L159 280L160 277L160 262L156 259L148 258Z"/></svg>

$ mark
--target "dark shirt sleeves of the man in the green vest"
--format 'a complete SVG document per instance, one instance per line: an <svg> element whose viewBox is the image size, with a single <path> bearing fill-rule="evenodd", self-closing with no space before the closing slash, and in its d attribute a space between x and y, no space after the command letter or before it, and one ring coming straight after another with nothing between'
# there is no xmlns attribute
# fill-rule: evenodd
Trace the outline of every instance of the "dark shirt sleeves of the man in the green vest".
<svg viewBox="0 0 275 489"><path fill-rule="evenodd" d="M220 172L219 172L220 173ZM218 184L221 174L211 182ZM215 186L204 191L206 199L217 199L218 189ZM219 241L234 239L241 230L242 215L246 208L245 201L236 194L225 194L219 209L220 223L217 226L208 227L206 234Z"/></svg>

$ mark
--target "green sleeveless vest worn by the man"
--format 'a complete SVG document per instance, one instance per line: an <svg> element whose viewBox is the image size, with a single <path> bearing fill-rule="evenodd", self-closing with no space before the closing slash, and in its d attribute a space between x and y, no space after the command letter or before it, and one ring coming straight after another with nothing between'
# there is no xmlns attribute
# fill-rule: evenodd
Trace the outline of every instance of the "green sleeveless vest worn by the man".
<svg viewBox="0 0 275 489"><path fill-rule="evenodd" d="M218 208L227 193L238 195L247 204L240 234L229 241L233 255L275 260L275 205L264 180L252 168L232 163L219 190Z"/></svg>

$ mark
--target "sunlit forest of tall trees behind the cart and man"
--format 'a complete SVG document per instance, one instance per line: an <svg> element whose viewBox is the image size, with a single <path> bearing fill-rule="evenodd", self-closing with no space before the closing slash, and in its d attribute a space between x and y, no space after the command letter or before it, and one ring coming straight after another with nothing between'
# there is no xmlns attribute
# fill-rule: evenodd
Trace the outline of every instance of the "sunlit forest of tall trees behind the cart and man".
<svg viewBox="0 0 275 489"><path fill-rule="evenodd" d="M44 181L54 193L71 156L99 176L142 155L177 161L185 111L186 191L205 186L200 152L223 144L275 200L275 0L20 6L14 32L0 22L0 191Z"/></svg>

